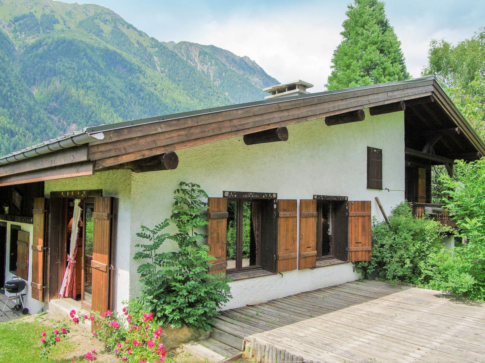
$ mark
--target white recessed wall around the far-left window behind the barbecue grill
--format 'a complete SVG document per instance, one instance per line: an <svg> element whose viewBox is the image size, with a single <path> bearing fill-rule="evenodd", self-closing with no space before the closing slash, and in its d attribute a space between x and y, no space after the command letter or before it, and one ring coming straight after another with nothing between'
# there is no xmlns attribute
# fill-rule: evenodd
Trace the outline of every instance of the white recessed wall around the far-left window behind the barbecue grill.
<svg viewBox="0 0 485 363"><path fill-rule="evenodd" d="M39 302L35 299L32 299L32 288L30 283L32 281L32 232L33 232L33 225L27 223L17 223L17 222L10 222L4 221L7 223L7 249L6 249L6 256L5 256L5 281L12 280L15 276L12 272L10 272L10 232L11 226L16 225L20 226L20 230L29 232L29 279L26 281L27 286L22 291L23 294L27 294L24 296L24 304L29 309L30 314L37 314L42 311L42 307L44 306L43 302ZM8 296L8 292L5 291L5 294ZM0 306L0 309L3 308L3 304ZM20 312L19 315L22 315Z"/></svg>

